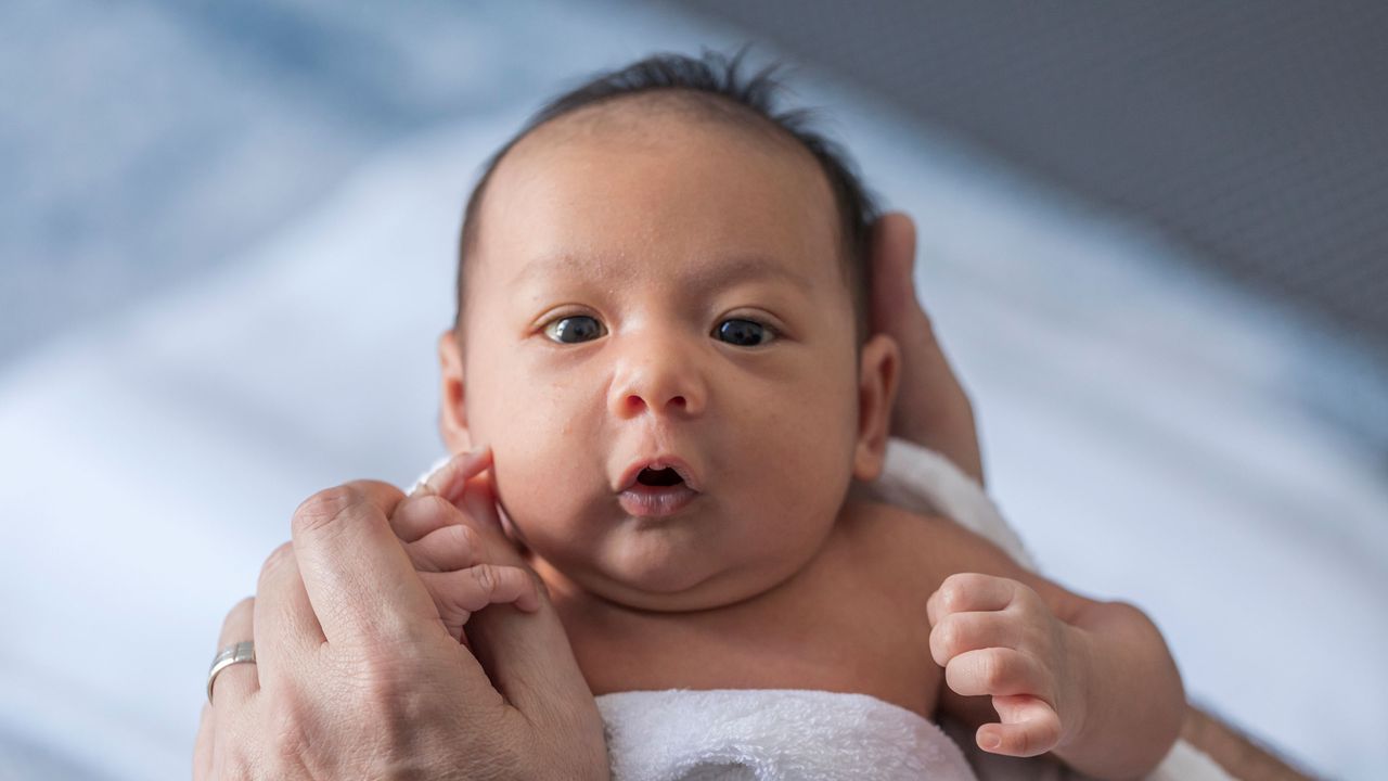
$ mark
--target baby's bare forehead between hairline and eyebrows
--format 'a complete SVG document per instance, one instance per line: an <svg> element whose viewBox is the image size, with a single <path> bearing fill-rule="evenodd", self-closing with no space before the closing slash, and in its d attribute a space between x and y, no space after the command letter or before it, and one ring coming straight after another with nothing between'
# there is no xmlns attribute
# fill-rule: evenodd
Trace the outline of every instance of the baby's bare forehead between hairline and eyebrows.
<svg viewBox="0 0 1388 781"><path fill-rule="evenodd" d="M633 192L645 197L633 200ZM525 267L557 253L566 256L566 278L613 282L619 275L605 274L604 261L626 250L697 257L690 272L705 288L748 277L759 258L818 278L820 288L831 279L836 288L854 285L827 176L799 142L756 115L687 101L589 106L516 142L482 196L471 239L465 229L465 239L476 242L464 247L469 297L486 286L491 300L511 299ZM623 210L643 218L622 220ZM716 224L700 247L708 252L666 240L677 225L706 225L698 220L711 215ZM550 240L557 235L562 240ZM711 257L727 263L704 263ZM486 271L479 274L479 265ZM762 282L779 290L805 286L788 275L766 274Z"/></svg>

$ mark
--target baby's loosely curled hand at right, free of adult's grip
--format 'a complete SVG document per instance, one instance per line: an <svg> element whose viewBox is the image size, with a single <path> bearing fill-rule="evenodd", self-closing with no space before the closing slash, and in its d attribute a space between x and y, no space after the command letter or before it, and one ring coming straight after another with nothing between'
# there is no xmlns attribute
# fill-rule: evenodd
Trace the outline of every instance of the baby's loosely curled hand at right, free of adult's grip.
<svg viewBox="0 0 1388 781"><path fill-rule="evenodd" d="M1041 596L1013 579L945 578L926 603L930 655L963 696L990 695L1001 724L979 727L979 748L1035 756L1069 742L1084 723L1083 643Z"/></svg>

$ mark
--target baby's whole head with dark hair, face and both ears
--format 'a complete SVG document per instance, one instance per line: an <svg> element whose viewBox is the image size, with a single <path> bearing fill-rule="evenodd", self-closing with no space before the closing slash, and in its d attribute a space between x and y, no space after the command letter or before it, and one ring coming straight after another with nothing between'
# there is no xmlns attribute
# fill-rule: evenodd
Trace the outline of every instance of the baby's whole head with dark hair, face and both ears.
<svg viewBox="0 0 1388 781"><path fill-rule="evenodd" d="M541 110L473 190L440 425L491 446L547 579L652 610L747 599L881 468L872 206L775 89L738 58L637 63ZM650 464L683 485L626 491Z"/></svg>

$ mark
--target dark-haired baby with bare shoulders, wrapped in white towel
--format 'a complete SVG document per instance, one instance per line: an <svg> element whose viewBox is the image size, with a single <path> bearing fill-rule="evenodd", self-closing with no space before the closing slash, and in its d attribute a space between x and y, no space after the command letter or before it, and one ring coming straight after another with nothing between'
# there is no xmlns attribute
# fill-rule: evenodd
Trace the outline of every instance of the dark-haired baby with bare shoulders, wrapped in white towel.
<svg viewBox="0 0 1388 781"><path fill-rule="evenodd" d="M1146 773L1184 692L1140 610L851 492L899 365L867 332L874 213L773 88L647 60L491 158L439 343L457 456L391 518L440 618L466 642L487 605L554 610L594 695L859 693Z"/></svg>

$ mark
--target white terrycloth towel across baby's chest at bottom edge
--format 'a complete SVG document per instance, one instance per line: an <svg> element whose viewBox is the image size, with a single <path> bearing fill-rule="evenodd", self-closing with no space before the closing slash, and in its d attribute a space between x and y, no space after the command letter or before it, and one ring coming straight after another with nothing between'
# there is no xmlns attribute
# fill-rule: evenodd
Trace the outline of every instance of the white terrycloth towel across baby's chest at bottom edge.
<svg viewBox="0 0 1388 781"><path fill-rule="evenodd" d="M866 695L672 689L597 702L615 781L976 778L940 727Z"/></svg>

